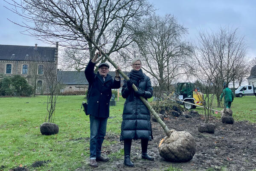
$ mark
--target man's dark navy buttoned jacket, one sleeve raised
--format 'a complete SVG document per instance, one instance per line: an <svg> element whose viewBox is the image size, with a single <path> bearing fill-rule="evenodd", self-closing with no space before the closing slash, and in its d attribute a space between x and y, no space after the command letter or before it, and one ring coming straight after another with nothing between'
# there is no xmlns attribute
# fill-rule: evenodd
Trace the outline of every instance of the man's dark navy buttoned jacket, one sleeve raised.
<svg viewBox="0 0 256 171"><path fill-rule="evenodd" d="M112 96L111 89L120 88L121 79L113 80L112 76L107 74L105 81L103 77L97 72L93 72L95 64L91 61L88 63L84 70L85 77L89 82L89 94L88 94L88 107L87 113L99 117L109 117L109 102Z"/></svg>

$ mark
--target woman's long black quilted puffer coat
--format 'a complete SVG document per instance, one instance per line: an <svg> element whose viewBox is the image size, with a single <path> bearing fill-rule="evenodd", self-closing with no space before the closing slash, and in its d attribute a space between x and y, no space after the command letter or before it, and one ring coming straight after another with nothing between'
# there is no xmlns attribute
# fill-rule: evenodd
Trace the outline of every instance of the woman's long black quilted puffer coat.
<svg viewBox="0 0 256 171"><path fill-rule="evenodd" d="M138 88L145 91L145 99L153 96L150 78L144 74L139 81ZM125 98L124 110L122 115L122 126L120 141L125 139L153 139L150 112L140 97L133 96L134 90L127 88L126 81L122 87L122 97ZM130 98L132 96L133 98Z"/></svg>

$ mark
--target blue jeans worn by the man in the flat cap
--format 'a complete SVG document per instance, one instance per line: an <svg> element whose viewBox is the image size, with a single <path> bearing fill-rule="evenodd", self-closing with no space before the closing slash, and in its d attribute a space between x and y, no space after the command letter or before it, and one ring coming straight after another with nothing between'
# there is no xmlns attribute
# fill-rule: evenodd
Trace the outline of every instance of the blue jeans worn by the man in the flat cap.
<svg viewBox="0 0 256 171"><path fill-rule="evenodd" d="M90 115L90 159L96 159L101 155L107 121L108 118L98 118Z"/></svg>

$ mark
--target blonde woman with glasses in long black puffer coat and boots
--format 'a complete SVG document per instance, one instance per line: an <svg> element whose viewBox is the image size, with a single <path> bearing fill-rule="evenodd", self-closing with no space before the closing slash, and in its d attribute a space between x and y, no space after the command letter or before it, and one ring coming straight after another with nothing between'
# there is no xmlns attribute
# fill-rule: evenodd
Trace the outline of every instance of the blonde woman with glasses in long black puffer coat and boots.
<svg viewBox="0 0 256 171"><path fill-rule="evenodd" d="M133 167L130 159L131 140L141 139L141 150L143 159L154 160L147 154L148 141L153 139L150 113L140 96L145 99L153 96L150 78L141 70L141 60L135 58L131 64L133 70L129 73L129 80L124 81L122 87L122 97L125 98L124 110L122 115L122 127L120 141L124 141L125 159L124 164ZM133 90L134 84L138 91Z"/></svg>

